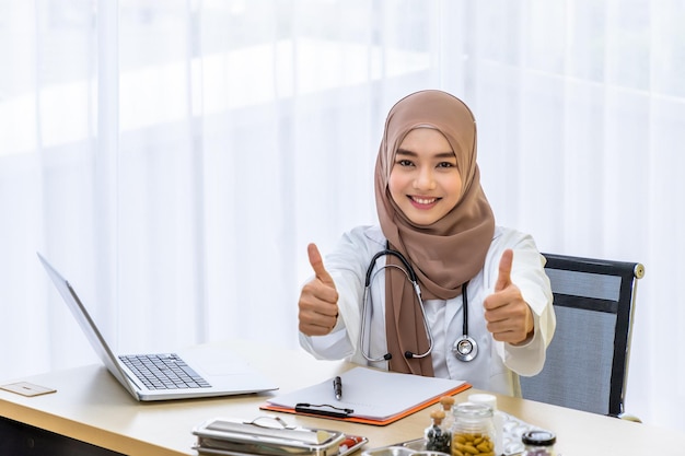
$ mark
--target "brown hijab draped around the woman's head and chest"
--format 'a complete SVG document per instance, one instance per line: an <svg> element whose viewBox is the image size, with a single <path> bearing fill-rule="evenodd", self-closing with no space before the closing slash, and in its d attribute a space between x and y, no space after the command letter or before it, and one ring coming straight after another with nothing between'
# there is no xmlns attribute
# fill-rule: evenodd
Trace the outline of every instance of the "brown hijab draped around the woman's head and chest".
<svg viewBox="0 0 685 456"><path fill-rule="evenodd" d="M461 199L445 217L431 225L417 226L393 201L387 182L395 152L405 136L425 127L439 130L452 145L463 188ZM480 187L476 121L471 109L455 96L434 90L397 102L385 121L374 179L383 234L391 248L402 253L416 270L422 299L458 296L462 284L483 269L495 232L492 210ZM394 256L386 256L386 261L399 262ZM409 281L397 269L385 269L385 331L391 371L433 375L431 356L408 360L404 355L405 350L428 350L422 321Z"/></svg>

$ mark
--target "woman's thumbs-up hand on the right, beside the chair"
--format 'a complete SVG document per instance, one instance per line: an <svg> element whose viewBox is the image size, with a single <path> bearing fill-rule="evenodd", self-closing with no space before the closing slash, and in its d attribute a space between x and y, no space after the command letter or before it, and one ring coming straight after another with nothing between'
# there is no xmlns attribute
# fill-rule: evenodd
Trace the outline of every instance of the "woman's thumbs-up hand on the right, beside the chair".
<svg viewBox="0 0 685 456"><path fill-rule="evenodd" d="M494 293L485 299L487 329L495 340L521 343L533 335L533 312L521 295L521 290L511 281L513 250L508 248L499 262L499 274Z"/></svg>

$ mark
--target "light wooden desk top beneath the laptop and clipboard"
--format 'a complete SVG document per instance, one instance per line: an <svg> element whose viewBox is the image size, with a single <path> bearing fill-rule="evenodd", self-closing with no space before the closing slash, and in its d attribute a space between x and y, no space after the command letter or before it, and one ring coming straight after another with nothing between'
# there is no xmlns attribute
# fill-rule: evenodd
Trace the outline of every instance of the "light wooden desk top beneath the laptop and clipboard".
<svg viewBox="0 0 685 456"><path fill-rule="evenodd" d="M253 342L227 343L287 393L323 382L349 369L341 362L316 361L299 350L274 350ZM259 410L266 395L173 400L141 404L109 375L104 366L90 365L25 378L57 393L23 397L0 390L0 416L127 455L195 455L191 429L213 417L252 420L271 414ZM24 378L22 378L24 381ZM9 383L9 382L2 382ZM456 396L466 400L476 390ZM501 410L557 434L557 452L570 455L675 454L684 441L676 431L622 421L556 406L498 396ZM369 437L367 448L420 437L429 423L423 410L388 426L279 414L289 423L336 429Z"/></svg>

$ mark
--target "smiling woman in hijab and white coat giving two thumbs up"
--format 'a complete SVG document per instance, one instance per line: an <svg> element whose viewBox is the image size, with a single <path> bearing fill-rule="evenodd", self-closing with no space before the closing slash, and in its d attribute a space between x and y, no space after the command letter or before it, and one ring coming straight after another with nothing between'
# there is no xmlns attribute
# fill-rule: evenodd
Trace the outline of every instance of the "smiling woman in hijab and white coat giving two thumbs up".
<svg viewBox="0 0 685 456"><path fill-rule="evenodd" d="M390 112L375 165L379 226L346 233L299 301L300 343L317 359L462 379L519 396L554 335L545 259L496 226L480 187L476 124L441 91Z"/></svg>

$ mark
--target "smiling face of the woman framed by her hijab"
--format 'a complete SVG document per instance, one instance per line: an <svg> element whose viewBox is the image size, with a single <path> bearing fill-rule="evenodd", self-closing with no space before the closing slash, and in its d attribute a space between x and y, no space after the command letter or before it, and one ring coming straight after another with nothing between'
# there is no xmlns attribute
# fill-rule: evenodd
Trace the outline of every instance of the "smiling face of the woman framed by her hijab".
<svg viewBox="0 0 685 456"><path fill-rule="evenodd" d="M413 223L430 225L456 206L462 177L446 138L432 128L416 128L395 154L388 180L391 197Z"/></svg>

